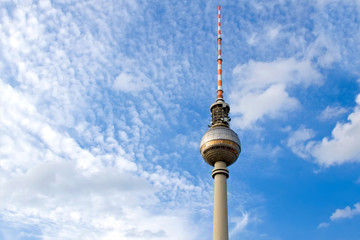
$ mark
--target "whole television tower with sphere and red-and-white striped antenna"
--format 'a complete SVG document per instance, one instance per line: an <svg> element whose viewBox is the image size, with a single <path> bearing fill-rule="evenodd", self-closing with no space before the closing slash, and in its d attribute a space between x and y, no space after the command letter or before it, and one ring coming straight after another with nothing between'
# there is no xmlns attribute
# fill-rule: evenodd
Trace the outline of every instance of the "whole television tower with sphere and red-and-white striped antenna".
<svg viewBox="0 0 360 240"><path fill-rule="evenodd" d="M228 240L227 166L238 158L241 147L238 135L229 127L230 106L223 99L221 58L220 6L218 8L218 89L217 99L210 106L211 126L200 142L200 152L205 162L214 167L214 228L213 240Z"/></svg>

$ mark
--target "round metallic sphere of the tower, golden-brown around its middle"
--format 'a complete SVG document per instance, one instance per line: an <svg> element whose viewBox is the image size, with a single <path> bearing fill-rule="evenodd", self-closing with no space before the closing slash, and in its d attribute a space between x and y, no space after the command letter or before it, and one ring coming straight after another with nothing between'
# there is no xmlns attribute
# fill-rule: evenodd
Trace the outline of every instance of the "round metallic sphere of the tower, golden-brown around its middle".
<svg viewBox="0 0 360 240"><path fill-rule="evenodd" d="M200 152L211 166L214 166L217 161L224 161L227 166L230 166L241 152L240 139L227 126L213 126L202 137Z"/></svg>

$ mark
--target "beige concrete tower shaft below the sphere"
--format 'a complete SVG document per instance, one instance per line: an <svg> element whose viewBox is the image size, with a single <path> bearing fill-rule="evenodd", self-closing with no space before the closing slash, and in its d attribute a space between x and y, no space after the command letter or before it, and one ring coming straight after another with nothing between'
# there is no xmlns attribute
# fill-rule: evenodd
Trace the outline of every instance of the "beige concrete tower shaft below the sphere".
<svg viewBox="0 0 360 240"><path fill-rule="evenodd" d="M226 163L218 161L213 170L214 178L214 225L213 240L228 240L228 212L226 180L229 171Z"/></svg>

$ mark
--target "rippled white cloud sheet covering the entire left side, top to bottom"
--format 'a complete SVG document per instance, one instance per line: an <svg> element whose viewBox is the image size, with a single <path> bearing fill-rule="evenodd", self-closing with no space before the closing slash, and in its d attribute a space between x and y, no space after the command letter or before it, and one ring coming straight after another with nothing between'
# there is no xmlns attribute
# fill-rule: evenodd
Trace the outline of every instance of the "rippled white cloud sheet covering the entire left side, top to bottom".
<svg viewBox="0 0 360 240"><path fill-rule="evenodd" d="M1 219L43 239L199 239L193 210L208 208L210 187L145 156L157 153L145 121L163 120L161 100L147 93L136 105L113 88L149 87L143 68L151 67L113 57L126 24L110 31L113 6L95 2L0 10ZM138 16L136 4L117 4L118 21Z"/></svg>

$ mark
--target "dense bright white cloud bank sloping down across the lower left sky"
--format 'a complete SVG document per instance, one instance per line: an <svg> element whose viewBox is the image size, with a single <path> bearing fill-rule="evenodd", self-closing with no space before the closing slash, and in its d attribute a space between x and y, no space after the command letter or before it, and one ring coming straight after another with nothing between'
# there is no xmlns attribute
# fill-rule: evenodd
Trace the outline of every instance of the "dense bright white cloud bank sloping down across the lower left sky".
<svg viewBox="0 0 360 240"><path fill-rule="evenodd" d="M85 233L87 239L195 239L201 232L182 201L201 209L194 199L206 199L203 187L160 166L139 168L111 133L89 123L77 127L94 141L83 148L39 114L31 99L2 82L0 87L4 221L36 225L44 239L82 239Z"/></svg>

